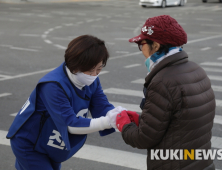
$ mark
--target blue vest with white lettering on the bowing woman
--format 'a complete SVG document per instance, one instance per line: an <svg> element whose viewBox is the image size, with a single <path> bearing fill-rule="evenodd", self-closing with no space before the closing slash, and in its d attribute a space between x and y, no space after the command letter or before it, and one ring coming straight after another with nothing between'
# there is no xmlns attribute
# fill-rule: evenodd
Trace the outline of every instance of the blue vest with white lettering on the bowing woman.
<svg viewBox="0 0 222 170"><path fill-rule="evenodd" d="M99 80L97 78L93 84L86 86L85 96L83 96L84 94L81 96L76 92L76 87L70 82L65 71L65 63L63 63L40 79L29 99L16 115L6 136L8 139L13 138L16 133L19 133L19 129L35 112L38 85L47 82L58 83L69 99L74 112L80 113L80 116L82 117L87 116L90 99L99 85ZM112 108L112 105L108 105L107 107L108 110L111 110ZM102 113L103 116L107 113L107 109ZM89 123L85 122L84 124L81 124L80 122L79 126L88 127ZM42 115L40 130L41 132L39 133L34 149L40 153L47 154L55 162L63 162L73 156L84 145L87 137L87 135L69 134L65 122L61 121L55 124L50 116L45 117L44 115ZM107 129L100 131L100 135L104 136L114 131L114 129Z"/></svg>

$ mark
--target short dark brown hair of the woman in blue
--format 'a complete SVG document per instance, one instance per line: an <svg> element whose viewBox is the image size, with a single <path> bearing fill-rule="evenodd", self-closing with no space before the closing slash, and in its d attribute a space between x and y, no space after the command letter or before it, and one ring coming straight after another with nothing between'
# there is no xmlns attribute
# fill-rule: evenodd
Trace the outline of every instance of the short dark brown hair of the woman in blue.
<svg viewBox="0 0 222 170"><path fill-rule="evenodd" d="M65 51L65 63L72 73L92 70L102 61L103 66L109 58L105 42L91 35L73 39Z"/></svg>

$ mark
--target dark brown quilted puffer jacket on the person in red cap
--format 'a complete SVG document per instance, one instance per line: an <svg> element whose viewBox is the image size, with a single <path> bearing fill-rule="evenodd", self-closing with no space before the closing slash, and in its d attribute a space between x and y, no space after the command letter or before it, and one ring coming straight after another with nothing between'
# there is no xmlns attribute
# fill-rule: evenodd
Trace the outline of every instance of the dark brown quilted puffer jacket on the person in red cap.
<svg viewBox="0 0 222 170"><path fill-rule="evenodd" d="M146 77L139 127L124 126L132 147L147 149L148 170L211 170L212 160L151 160L150 149L211 149L215 96L205 71L185 52L163 59Z"/></svg>

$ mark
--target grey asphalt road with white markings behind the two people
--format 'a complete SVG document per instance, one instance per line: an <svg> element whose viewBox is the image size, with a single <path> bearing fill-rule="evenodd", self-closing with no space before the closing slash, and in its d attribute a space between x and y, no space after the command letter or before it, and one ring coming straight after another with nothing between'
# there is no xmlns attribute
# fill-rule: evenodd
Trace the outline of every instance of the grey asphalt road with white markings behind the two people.
<svg viewBox="0 0 222 170"><path fill-rule="evenodd" d="M9 1L8 1L9 2ZM38 1L40 2L40 1ZM45 1L46 2L46 1ZM184 50L207 72L217 99L212 147L222 148L222 3L189 1L184 7L142 8L137 0L0 3L0 169L13 170L15 157L5 135L38 80L64 58L68 43L83 34L106 41L110 52L100 80L108 99L141 113L147 74L145 58L128 42L148 17L167 14L188 34ZM217 169L222 162L215 160ZM86 145L62 170L146 169L146 150L126 145L119 132L88 135Z"/></svg>

